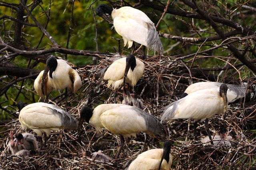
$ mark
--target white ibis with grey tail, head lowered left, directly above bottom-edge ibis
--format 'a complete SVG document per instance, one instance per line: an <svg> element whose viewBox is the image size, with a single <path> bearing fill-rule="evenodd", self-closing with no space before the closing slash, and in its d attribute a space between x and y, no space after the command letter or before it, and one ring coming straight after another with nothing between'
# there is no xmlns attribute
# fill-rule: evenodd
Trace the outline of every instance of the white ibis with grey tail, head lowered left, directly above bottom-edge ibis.
<svg viewBox="0 0 256 170"><path fill-rule="evenodd" d="M105 128L114 135L120 135L120 148L116 158L119 157L124 145L123 137L136 137L136 133L141 131L152 137L164 136L163 126L154 116L124 104L101 104L93 111L89 107L84 107L80 111L78 136L84 121L94 126L97 131L101 132L101 128Z"/></svg>

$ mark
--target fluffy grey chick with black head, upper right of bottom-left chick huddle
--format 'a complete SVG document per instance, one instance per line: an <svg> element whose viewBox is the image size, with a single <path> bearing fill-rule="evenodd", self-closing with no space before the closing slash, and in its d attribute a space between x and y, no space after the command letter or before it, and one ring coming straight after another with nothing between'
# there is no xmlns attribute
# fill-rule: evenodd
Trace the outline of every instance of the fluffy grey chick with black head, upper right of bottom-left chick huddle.
<svg viewBox="0 0 256 170"><path fill-rule="evenodd" d="M31 133L18 133L16 139L20 145L24 145L27 150L37 150L38 144L36 138Z"/></svg>

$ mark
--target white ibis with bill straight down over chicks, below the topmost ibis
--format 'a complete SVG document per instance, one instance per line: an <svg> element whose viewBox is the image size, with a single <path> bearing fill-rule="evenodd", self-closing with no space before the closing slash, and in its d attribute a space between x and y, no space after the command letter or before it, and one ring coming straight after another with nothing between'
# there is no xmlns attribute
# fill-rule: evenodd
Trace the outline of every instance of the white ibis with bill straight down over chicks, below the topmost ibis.
<svg viewBox="0 0 256 170"><path fill-rule="evenodd" d="M108 80L108 87L112 86L114 90L117 90L124 82L134 87L144 72L144 66L145 64L136 59L134 55L129 55L102 69L100 71L100 82Z"/></svg>

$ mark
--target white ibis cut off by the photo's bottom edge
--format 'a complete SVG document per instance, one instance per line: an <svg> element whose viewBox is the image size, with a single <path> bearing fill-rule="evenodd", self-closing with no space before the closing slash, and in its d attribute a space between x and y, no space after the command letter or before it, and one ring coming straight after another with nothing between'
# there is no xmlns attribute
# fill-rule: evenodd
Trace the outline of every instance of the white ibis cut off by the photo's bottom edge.
<svg viewBox="0 0 256 170"><path fill-rule="evenodd" d="M163 149L150 149L134 159L125 170L169 170L172 165L171 142L165 141Z"/></svg>

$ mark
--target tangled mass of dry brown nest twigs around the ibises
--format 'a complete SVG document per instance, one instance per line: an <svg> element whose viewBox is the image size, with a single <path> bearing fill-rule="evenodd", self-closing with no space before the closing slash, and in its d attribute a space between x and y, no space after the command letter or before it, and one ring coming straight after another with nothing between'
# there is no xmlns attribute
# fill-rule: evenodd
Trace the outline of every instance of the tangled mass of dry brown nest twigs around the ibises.
<svg viewBox="0 0 256 170"><path fill-rule="evenodd" d="M68 112L79 119L79 112L83 106L96 107L102 103L112 103L114 91L107 88L106 83L98 82L98 72L111 64L112 61L102 59L96 66L78 68L82 77L82 88L77 94L68 96ZM188 82L192 79L188 69L182 62L173 62L170 57L151 57L144 61L145 71L135 87L146 111L160 118L164 107L179 99ZM193 80L202 81L198 78ZM100 84L100 85L99 85ZM118 96L122 99L121 92ZM65 108L63 95L52 96L52 102ZM120 102L120 101L119 101ZM192 123L189 120L178 119L168 125L169 139L174 142L171 154L174 156L173 169L245 169L256 166L256 138L255 138L255 102L243 104L243 101L232 104L224 120L216 115L209 121L211 133L217 133L220 125L227 127L228 132L236 134L235 147L203 146L200 138L206 136L204 123L199 123L198 141L194 140ZM188 133L188 124L190 131ZM82 145L77 139L77 131L54 131L47 141L47 150L38 151L37 156L30 160L14 162L6 149L10 129L14 133L22 132L17 119L1 126L4 137L0 145L1 164L3 169L122 169L126 162L136 158L138 154L149 149L162 148L161 141L151 139L148 135L139 133L137 138L126 139L120 158L113 162L91 161L81 152L102 150L104 154L113 157L118 149L118 137L104 130L98 133L91 125L84 123L82 130ZM34 133L34 132L31 132ZM36 139L38 140L37 135Z"/></svg>

